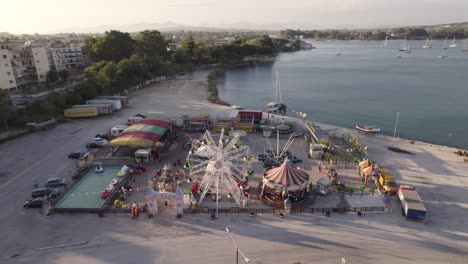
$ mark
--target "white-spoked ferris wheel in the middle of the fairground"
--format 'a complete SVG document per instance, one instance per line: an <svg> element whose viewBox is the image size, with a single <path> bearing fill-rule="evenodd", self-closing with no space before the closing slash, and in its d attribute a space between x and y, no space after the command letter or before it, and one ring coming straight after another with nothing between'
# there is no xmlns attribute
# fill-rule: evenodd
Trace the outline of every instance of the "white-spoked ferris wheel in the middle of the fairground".
<svg viewBox="0 0 468 264"><path fill-rule="evenodd" d="M232 195L239 206L247 199L238 183L251 168L248 158L250 148L240 142L240 137L238 134L229 137L225 135L223 129L217 141L209 131L206 131L201 138L192 140L186 165L189 167L190 177L201 178L200 188L203 192L199 204L212 187L215 188L215 199L218 201L220 185Z"/></svg>

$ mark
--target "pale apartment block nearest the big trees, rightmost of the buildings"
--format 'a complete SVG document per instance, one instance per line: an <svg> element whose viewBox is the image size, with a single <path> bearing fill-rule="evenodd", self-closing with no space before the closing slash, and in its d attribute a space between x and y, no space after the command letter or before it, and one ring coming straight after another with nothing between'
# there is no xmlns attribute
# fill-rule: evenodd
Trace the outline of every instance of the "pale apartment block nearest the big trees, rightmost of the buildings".
<svg viewBox="0 0 468 264"><path fill-rule="evenodd" d="M81 47L51 48L55 69L76 69L84 66Z"/></svg>

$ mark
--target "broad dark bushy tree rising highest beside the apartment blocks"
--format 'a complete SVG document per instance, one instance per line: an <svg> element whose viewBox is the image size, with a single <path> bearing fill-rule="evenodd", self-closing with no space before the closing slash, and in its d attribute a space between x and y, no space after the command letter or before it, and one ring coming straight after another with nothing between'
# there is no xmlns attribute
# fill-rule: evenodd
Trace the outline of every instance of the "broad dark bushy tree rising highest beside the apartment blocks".
<svg viewBox="0 0 468 264"><path fill-rule="evenodd" d="M118 62L133 54L134 41L129 33L118 30L106 31L96 42L89 41L97 60Z"/></svg>

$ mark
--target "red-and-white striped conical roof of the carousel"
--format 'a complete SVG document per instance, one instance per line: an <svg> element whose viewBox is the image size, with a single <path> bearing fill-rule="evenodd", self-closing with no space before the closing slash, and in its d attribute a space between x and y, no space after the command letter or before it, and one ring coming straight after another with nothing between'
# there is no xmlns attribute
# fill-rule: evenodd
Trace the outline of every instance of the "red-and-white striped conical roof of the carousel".
<svg viewBox="0 0 468 264"><path fill-rule="evenodd" d="M286 187L302 186L309 181L307 172L296 168L287 160L279 167L266 170L263 176L271 183Z"/></svg>

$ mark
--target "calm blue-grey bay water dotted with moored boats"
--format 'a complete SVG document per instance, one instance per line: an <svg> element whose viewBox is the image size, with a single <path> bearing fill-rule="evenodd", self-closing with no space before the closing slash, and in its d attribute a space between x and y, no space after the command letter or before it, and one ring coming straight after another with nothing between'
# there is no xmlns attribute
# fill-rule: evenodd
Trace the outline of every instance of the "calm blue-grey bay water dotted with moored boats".
<svg viewBox="0 0 468 264"><path fill-rule="evenodd" d="M246 109L273 100L276 72L283 102L307 119L354 128L371 124L393 135L468 149L468 52L443 41L310 41L317 47L281 53L274 63L233 68L218 80L221 99ZM341 56L337 56L339 52ZM291 114L291 111L290 111Z"/></svg>

